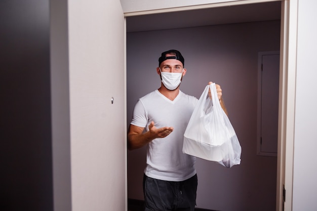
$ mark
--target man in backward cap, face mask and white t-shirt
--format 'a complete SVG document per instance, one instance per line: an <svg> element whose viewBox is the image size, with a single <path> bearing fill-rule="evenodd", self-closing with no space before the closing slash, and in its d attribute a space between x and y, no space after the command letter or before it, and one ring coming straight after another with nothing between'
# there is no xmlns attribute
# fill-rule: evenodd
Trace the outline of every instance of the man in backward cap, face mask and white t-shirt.
<svg viewBox="0 0 317 211"><path fill-rule="evenodd" d="M145 211L193 211L197 190L195 157L184 154L182 147L198 99L179 90L186 74L179 51L163 52L156 72L161 76L161 87L139 99L128 131L129 150L147 145L143 178ZM225 110L221 88L219 85L216 88Z"/></svg>

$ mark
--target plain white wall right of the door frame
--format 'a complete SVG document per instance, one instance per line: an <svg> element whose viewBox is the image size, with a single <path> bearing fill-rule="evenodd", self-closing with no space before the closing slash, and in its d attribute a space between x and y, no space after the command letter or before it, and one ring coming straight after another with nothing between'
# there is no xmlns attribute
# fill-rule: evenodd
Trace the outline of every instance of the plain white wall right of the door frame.
<svg viewBox="0 0 317 211"><path fill-rule="evenodd" d="M298 2L293 211L317 207L317 2Z"/></svg>

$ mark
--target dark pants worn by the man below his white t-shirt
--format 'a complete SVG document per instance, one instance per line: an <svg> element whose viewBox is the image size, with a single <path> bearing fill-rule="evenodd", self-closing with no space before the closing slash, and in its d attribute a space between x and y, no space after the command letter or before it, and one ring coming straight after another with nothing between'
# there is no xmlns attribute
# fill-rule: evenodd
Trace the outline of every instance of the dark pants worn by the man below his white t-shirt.
<svg viewBox="0 0 317 211"><path fill-rule="evenodd" d="M197 175L182 182L143 177L145 211L193 211L196 205Z"/></svg>

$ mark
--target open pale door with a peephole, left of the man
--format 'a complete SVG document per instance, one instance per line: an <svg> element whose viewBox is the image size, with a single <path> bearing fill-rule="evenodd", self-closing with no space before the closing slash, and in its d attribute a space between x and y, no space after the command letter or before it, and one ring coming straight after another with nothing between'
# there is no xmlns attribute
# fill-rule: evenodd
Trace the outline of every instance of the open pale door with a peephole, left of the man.
<svg viewBox="0 0 317 211"><path fill-rule="evenodd" d="M62 127L54 131L54 210L126 210L125 20L120 1L56 2L51 3L52 25L59 22L51 32L52 54L59 59L52 65L61 64L59 53L68 51L63 54L68 74L52 70L52 92L60 93L52 101L69 99L64 115L69 116L69 135L60 141L56 137ZM56 34L62 30L61 45ZM67 97L58 98L63 95ZM53 110L58 113L59 108ZM65 196L63 185L70 189L66 197L59 196Z"/></svg>

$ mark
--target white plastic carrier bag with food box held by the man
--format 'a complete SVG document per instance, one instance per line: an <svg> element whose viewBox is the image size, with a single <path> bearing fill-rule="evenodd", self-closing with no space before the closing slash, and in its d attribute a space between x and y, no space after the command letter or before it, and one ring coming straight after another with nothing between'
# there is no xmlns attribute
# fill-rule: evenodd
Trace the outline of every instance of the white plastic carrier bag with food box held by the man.
<svg viewBox="0 0 317 211"><path fill-rule="evenodd" d="M209 89L212 100L208 96ZM240 164L241 146L221 108L215 83L206 86L190 117L184 134L183 153L226 167Z"/></svg>

